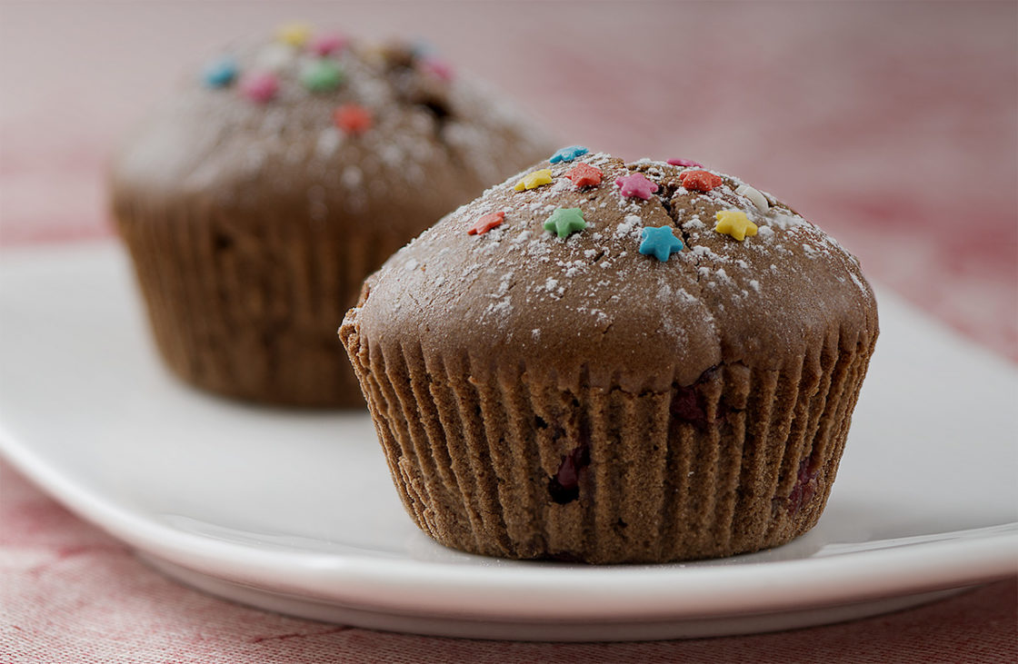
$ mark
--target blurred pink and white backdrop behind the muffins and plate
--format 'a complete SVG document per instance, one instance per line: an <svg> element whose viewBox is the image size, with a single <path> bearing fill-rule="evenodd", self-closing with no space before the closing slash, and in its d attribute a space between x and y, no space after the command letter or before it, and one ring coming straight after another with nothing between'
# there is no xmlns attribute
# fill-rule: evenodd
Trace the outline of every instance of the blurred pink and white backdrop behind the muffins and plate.
<svg viewBox="0 0 1018 664"><path fill-rule="evenodd" d="M294 19L429 42L563 144L737 175L1018 361L1011 1L5 1L0 247L111 236L118 137L225 42Z"/></svg>

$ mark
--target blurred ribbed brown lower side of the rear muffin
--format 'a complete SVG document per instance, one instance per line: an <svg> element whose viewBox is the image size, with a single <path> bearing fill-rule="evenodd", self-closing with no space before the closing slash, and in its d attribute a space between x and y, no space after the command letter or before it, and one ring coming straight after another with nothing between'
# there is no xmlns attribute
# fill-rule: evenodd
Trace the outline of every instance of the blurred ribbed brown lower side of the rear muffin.
<svg viewBox="0 0 1018 664"><path fill-rule="evenodd" d="M336 327L404 237L211 200L114 201L156 346L180 377L279 405L362 407ZM294 206L291 209L299 209Z"/></svg>

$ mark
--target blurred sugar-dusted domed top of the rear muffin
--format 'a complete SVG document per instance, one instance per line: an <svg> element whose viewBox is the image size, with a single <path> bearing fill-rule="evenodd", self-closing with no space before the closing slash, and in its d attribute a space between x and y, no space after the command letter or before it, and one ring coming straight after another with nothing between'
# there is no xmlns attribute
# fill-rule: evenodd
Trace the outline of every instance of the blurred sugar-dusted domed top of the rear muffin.
<svg viewBox="0 0 1018 664"><path fill-rule="evenodd" d="M222 49L136 127L114 196L281 210L295 198L319 219L381 202L434 220L545 154L524 120L425 47L285 25Z"/></svg>

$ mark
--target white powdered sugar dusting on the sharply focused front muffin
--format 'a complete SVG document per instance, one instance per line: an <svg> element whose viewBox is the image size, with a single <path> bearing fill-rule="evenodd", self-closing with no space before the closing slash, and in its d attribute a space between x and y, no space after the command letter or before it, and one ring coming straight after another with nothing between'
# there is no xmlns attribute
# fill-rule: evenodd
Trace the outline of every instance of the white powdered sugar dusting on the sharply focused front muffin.
<svg viewBox="0 0 1018 664"><path fill-rule="evenodd" d="M816 269L844 271L837 243L780 203L762 212L736 193L731 179L706 194L682 193L675 167L649 161L625 165L600 153L576 161L602 168L603 184L580 189L564 178L573 164L538 164L527 172L548 168L552 183L517 192L513 185L520 177L514 176L403 250L429 255L429 276L446 277L441 297L432 300L444 303L435 305L441 315L456 303L473 302L467 325L543 347L562 343L563 335L632 335L631 321L640 320L654 327L636 330L640 339L653 344L667 339L675 349L689 341L694 326L731 324L750 303L794 302L788 284L815 276ZM623 197L614 185L635 166L661 184L649 200ZM564 238L547 231L544 225L557 207L578 207L587 227ZM714 231L716 212L733 207L743 208L757 225L755 236L738 241ZM502 226L467 235L473 221L494 210L506 213ZM667 260L640 253L641 230L668 224L683 249ZM864 282L850 275L863 288ZM830 281L847 284L848 278L836 273Z"/></svg>

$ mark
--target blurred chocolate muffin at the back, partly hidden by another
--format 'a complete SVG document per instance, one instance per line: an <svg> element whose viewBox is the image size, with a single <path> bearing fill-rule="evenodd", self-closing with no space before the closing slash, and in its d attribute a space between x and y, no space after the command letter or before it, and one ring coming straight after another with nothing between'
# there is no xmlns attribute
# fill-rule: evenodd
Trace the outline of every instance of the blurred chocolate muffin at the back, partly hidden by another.
<svg viewBox="0 0 1018 664"><path fill-rule="evenodd" d="M166 363L229 397L363 407L343 313L393 251L547 154L510 106L407 45L290 25L225 48L112 168Z"/></svg>

